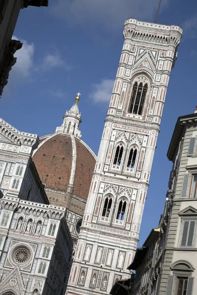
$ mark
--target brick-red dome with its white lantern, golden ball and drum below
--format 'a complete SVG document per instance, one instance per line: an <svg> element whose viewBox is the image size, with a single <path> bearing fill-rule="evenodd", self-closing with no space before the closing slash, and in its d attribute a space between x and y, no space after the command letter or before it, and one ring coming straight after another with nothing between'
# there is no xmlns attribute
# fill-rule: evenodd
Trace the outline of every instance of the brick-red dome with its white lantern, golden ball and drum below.
<svg viewBox="0 0 197 295"><path fill-rule="evenodd" d="M80 95L80 94L79 94ZM55 133L40 138L33 162L50 204L67 208L66 221L76 244L94 172L96 155L81 139L79 96Z"/></svg>

